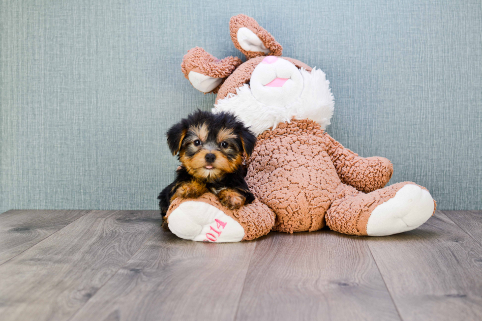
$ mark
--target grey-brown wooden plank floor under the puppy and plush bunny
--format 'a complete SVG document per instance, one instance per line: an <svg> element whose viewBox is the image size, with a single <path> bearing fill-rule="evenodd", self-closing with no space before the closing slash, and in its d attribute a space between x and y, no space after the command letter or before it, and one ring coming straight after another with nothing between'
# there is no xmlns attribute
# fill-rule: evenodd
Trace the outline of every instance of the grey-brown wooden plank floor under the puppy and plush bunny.
<svg viewBox="0 0 482 321"><path fill-rule="evenodd" d="M482 211L386 237L159 227L156 211L0 214L0 320L482 320Z"/></svg>

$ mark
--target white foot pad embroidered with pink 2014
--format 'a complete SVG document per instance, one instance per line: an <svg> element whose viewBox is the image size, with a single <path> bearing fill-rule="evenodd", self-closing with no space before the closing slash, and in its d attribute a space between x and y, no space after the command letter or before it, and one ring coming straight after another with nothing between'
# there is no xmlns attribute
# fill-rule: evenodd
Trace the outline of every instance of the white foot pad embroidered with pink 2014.
<svg viewBox="0 0 482 321"><path fill-rule="evenodd" d="M239 242L244 229L231 216L204 202L184 202L168 217L169 230L178 237L199 242Z"/></svg>

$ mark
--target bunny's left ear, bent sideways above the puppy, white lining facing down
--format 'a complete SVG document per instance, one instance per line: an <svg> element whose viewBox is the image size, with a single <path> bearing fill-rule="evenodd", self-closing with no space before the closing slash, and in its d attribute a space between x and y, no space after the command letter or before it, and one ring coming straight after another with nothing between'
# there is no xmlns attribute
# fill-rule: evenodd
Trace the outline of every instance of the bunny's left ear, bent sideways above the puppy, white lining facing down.
<svg viewBox="0 0 482 321"><path fill-rule="evenodd" d="M192 86L204 93L216 93L223 79L233 73L241 64L238 57L219 60L208 54L203 48L192 48L184 55L181 70Z"/></svg>

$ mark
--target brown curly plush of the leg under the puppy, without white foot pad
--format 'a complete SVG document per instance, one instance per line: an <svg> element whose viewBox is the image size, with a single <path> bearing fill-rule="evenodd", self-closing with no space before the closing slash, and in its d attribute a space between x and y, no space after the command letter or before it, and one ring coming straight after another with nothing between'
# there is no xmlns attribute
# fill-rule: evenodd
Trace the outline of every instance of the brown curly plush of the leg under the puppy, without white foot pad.
<svg viewBox="0 0 482 321"><path fill-rule="evenodd" d="M263 236L271 231L274 225L274 213L273 211L256 199L253 203L244 205L240 209L230 210L227 207L219 203L218 198L211 193L206 193L200 198L195 199L198 202L204 202L211 204L221 209L226 215L231 216L237 222L239 222L244 229L243 241L249 241L260 236ZM169 220L169 215L174 211L182 202L194 201L194 199L181 200L180 198L174 200L169 206L168 214L166 218Z"/></svg>

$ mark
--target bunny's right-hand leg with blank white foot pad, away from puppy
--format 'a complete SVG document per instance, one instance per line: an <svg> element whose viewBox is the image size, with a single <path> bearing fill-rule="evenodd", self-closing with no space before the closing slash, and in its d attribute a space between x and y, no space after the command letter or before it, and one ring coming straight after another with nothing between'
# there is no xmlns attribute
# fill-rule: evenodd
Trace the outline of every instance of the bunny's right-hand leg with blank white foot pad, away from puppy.
<svg viewBox="0 0 482 321"><path fill-rule="evenodd" d="M340 184L337 192L326 221L331 230L345 234L383 236L411 231L425 223L435 210L430 193L412 182L368 194Z"/></svg>

